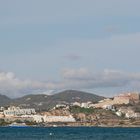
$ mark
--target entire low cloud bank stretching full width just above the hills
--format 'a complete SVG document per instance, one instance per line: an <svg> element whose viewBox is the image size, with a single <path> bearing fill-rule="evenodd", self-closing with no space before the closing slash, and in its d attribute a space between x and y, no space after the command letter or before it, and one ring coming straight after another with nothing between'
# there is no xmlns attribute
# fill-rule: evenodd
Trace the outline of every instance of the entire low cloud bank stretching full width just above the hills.
<svg viewBox="0 0 140 140"><path fill-rule="evenodd" d="M40 82L21 80L12 72L0 72L0 94L19 97L27 94L48 93L62 89L96 89L126 87L139 89L140 73L127 73L118 70L93 72L86 68L64 69L62 80Z"/></svg>

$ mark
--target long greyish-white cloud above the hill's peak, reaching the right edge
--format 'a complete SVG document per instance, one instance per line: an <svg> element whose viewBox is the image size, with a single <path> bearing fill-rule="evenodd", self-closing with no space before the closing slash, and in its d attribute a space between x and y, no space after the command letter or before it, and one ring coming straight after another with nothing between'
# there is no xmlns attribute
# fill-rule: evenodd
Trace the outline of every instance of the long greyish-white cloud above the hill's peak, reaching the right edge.
<svg viewBox="0 0 140 140"><path fill-rule="evenodd" d="M138 90L140 86L140 73L127 73L117 70L104 70L91 72L88 69L67 69L63 71L63 85L66 88L96 89L129 87Z"/></svg>

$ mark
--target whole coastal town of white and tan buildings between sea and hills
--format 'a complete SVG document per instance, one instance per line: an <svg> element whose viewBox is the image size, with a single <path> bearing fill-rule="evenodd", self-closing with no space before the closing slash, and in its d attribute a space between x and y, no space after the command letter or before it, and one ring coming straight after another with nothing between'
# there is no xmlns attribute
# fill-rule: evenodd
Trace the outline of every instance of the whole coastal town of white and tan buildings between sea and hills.
<svg viewBox="0 0 140 140"><path fill-rule="evenodd" d="M77 97L78 98L78 97ZM29 98L27 98L29 100ZM28 126L140 126L140 94L124 93L112 98L60 102L39 110L15 104L0 107L0 125Z"/></svg>

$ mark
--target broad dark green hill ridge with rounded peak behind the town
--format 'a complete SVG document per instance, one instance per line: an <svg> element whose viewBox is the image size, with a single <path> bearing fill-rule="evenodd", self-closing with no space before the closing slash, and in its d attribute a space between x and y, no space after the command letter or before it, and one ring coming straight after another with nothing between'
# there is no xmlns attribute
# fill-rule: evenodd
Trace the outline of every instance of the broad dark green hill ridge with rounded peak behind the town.
<svg viewBox="0 0 140 140"><path fill-rule="evenodd" d="M72 102L98 102L104 99L102 96L95 94L76 91L76 90L65 90L54 95L27 95L21 98L9 99L5 101L8 105L17 105L21 107L33 107L36 110L47 110L54 107L56 104L69 104ZM1 102L1 99L0 99ZM8 102L8 103L7 103Z"/></svg>

